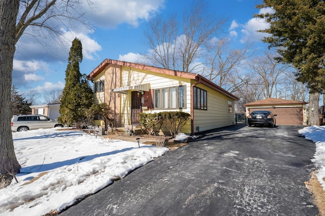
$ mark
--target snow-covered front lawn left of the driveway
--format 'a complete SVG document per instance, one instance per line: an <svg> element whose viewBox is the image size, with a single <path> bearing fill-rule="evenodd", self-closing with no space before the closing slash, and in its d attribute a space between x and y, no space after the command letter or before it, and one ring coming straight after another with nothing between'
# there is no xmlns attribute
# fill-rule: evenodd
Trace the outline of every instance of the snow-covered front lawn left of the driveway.
<svg viewBox="0 0 325 216"><path fill-rule="evenodd" d="M61 211L168 151L56 128L13 133L21 173L0 190L0 215Z"/></svg>

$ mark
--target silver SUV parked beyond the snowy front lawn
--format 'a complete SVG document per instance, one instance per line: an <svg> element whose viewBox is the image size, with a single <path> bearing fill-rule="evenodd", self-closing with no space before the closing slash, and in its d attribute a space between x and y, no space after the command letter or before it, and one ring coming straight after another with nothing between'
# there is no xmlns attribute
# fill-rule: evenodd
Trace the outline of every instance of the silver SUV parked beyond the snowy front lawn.
<svg viewBox="0 0 325 216"><path fill-rule="evenodd" d="M63 127L63 124L39 114L14 115L11 119L11 130L16 132L51 127Z"/></svg>

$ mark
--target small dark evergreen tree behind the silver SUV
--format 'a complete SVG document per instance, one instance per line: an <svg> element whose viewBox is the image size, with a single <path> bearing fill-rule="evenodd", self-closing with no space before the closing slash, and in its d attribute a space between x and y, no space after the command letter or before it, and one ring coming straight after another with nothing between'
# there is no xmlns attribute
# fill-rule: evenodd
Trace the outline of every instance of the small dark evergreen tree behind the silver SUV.
<svg viewBox="0 0 325 216"><path fill-rule="evenodd" d="M30 102L27 102L23 95L18 93L17 87L15 85L11 88L11 98L10 98L11 112L13 115L17 114L30 114L31 106Z"/></svg>

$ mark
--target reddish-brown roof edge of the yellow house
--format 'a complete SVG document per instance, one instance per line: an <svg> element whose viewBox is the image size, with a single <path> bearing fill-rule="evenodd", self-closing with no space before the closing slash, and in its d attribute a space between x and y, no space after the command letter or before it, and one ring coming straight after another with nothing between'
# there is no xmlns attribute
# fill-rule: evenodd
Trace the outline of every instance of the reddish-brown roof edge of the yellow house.
<svg viewBox="0 0 325 216"><path fill-rule="evenodd" d="M91 73L87 76L87 79L93 81L94 77L97 76L98 74L100 74L110 64L116 64L116 65L125 66L125 67L132 67L132 68L137 68L137 69L142 69L142 70L153 71L153 72L161 73L161 74L168 74L168 75L172 75L172 76L193 79L198 82L200 81L200 83L207 85L207 87L210 87L211 89L216 90L217 92L220 92L236 101L239 100L239 98L236 97L235 95L231 94L230 92L225 91L224 89L222 89L218 85L214 84L210 80L208 80L208 79L204 78L203 76L196 74L196 73L188 73L188 72L182 72L182 71L177 71L177 70L170 70L170 69L153 67L153 66L144 65L144 64L123 62L123 61L118 61L118 60L113 60L113 59L105 59L99 66L97 66L93 71L91 71Z"/></svg>

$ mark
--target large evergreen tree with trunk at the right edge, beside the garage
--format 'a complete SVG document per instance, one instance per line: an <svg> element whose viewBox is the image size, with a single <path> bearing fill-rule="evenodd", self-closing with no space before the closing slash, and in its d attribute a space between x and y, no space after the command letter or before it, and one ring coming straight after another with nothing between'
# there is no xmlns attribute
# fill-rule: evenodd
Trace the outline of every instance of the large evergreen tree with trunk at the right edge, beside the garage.
<svg viewBox="0 0 325 216"><path fill-rule="evenodd" d="M309 125L318 125L319 93L325 89L325 3L320 0L264 0L257 8L270 7L266 18L270 36L264 41L276 47L279 60L293 64L297 79L310 89ZM315 110L315 111L314 111Z"/></svg>

